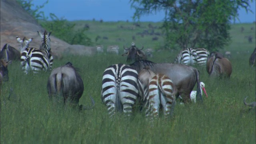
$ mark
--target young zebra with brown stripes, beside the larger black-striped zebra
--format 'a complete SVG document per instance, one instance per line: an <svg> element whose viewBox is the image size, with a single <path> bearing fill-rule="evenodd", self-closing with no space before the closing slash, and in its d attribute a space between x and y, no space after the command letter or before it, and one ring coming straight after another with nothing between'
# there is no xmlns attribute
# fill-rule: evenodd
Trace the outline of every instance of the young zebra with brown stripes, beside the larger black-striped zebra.
<svg viewBox="0 0 256 144"><path fill-rule="evenodd" d="M139 78L144 89L148 90L146 98L150 103L151 116L159 116L160 107L164 111L164 116L172 116L178 91L172 80L164 74L155 74L148 69L141 70Z"/></svg>

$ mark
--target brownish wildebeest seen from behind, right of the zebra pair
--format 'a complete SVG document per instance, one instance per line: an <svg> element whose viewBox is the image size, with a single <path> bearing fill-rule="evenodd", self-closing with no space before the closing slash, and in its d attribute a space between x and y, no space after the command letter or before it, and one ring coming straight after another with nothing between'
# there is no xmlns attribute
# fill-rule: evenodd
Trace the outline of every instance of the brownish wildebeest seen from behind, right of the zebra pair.
<svg viewBox="0 0 256 144"><path fill-rule="evenodd" d="M211 77L230 78L231 62L219 52L211 52L206 64L206 70Z"/></svg>

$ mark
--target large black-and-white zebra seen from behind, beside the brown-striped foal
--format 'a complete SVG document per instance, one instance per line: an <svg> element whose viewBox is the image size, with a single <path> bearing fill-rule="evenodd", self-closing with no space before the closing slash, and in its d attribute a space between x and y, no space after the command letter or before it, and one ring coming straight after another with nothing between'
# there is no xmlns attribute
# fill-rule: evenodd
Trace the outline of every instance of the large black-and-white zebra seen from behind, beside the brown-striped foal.
<svg viewBox="0 0 256 144"><path fill-rule="evenodd" d="M136 100L142 99L143 88L138 72L125 64L114 64L106 68L102 78L102 102L112 117L116 110L128 116Z"/></svg>

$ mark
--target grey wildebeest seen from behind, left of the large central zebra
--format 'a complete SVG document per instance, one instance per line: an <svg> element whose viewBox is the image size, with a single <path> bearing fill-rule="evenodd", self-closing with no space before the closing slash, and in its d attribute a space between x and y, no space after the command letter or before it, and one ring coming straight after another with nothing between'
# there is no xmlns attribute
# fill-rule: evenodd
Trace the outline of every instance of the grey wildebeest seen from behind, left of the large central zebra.
<svg viewBox="0 0 256 144"><path fill-rule="evenodd" d="M61 94L64 98L64 104L68 100L73 106L78 106L79 99L84 92L84 82L81 76L77 72L77 68L74 68L71 62L68 62L64 66L54 68L48 78L47 90L50 100L53 96ZM91 109L95 102L91 98L92 106L90 108L79 106L79 109Z"/></svg>

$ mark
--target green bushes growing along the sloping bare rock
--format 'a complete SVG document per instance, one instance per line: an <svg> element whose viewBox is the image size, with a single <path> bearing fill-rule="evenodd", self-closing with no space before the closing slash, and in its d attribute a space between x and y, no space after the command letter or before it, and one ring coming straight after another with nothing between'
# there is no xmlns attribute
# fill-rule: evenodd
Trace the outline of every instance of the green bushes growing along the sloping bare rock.
<svg viewBox="0 0 256 144"><path fill-rule="evenodd" d="M44 16L44 12L39 11L48 3L48 0L41 6L36 6L36 9L32 9L32 6L34 6L32 1L33 0L17 0L22 8L38 20L43 28L48 31L52 31L54 36L68 42L69 44L81 44L86 46L92 45L91 39L86 35L86 31L89 28L84 27L75 31L74 26L76 26L76 24L71 24L68 20L58 18L52 13L50 13L50 20L48 20L48 17Z"/></svg>

